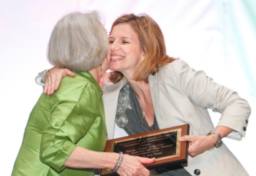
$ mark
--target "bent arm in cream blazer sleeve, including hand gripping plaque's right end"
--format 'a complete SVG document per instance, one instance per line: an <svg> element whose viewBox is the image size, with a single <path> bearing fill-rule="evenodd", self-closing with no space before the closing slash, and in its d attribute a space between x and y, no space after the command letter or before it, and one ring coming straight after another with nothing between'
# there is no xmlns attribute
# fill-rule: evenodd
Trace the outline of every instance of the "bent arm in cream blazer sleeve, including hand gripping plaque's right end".
<svg viewBox="0 0 256 176"><path fill-rule="evenodd" d="M221 113L221 118L213 131L217 131L221 138L231 132L245 136L245 122L250 115L250 106L246 100L239 97L237 92L214 82L203 71L194 71L181 61L175 69L179 85L191 102L202 108L210 108ZM208 131L209 132L209 131ZM184 136L181 141L189 141L189 154L196 156L214 146L218 138L216 134L209 136ZM215 141L215 142L214 142Z"/></svg>

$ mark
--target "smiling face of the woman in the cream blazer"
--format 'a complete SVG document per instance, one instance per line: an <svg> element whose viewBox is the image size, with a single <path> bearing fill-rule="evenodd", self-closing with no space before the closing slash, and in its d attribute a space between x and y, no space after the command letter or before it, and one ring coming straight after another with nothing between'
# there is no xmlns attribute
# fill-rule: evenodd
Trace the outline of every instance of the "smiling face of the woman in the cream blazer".
<svg viewBox="0 0 256 176"><path fill-rule="evenodd" d="M118 24L113 27L109 41L110 69L133 76L136 65L145 59L138 35L129 24Z"/></svg>

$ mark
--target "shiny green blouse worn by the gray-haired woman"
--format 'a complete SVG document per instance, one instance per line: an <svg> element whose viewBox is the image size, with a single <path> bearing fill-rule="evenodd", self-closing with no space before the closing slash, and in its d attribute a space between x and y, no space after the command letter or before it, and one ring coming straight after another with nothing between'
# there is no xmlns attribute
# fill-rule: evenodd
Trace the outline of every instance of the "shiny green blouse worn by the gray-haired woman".
<svg viewBox="0 0 256 176"><path fill-rule="evenodd" d="M42 94L27 121L12 175L94 175L63 166L75 147L103 151L107 129L102 89L87 72L64 77L53 95Z"/></svg>

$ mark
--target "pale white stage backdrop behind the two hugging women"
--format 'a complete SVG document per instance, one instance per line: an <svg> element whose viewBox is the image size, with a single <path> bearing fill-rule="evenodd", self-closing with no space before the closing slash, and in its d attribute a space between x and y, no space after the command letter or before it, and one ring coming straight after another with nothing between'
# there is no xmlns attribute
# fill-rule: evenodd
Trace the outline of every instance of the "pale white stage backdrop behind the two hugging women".
<svg viewBox="0 0 256 176"><path fill-rule="evenodd" d="M224 139L229 149L254 174L256 1L254 0L1 0L0 100L1 174L11 175L27 118L42 87L34 78L52 66L46 59L50 33L62 15L97 10L105 27L121 14L146 13L163 30L169 56L204 70L214 81L237 90L252 107L242 141ZM211 112L211 111L210 111ZM220 115L212 113L216 124Z"/></svg>

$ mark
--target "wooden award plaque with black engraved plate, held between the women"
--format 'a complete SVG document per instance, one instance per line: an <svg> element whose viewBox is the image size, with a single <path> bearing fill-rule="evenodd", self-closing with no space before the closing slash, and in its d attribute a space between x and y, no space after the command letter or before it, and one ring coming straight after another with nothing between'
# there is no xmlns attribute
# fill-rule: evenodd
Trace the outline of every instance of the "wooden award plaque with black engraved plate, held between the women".
<svg viewBox="0 0 256 176"><path fill-rule="evenodd" d="M153 164L145 164L147 169L184 164L187 163L188 142L180 142L179 138L186 134L189 134L188 124L111 139L107 140L105 152L121 151L132 156L155 157ZM102 169L101 175L118 174L111 169Z"/></svg>

